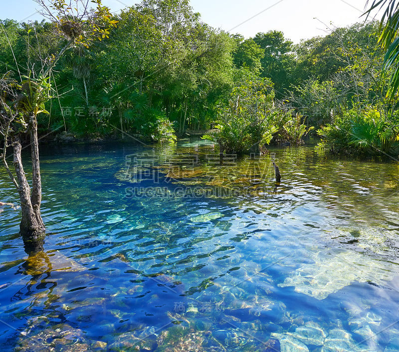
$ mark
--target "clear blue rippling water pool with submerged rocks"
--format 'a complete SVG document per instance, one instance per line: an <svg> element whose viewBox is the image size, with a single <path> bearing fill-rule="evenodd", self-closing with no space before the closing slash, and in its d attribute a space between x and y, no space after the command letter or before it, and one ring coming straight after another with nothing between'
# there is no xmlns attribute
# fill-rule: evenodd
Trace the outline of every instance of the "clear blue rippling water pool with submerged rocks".
<svg viewBox="0 0 399 352"><path fill-rule="evenodd" d="M219 165L201 140L41 152L44 251L0 214L3 351L399 351L398 163L303 146Z"/></svg>

